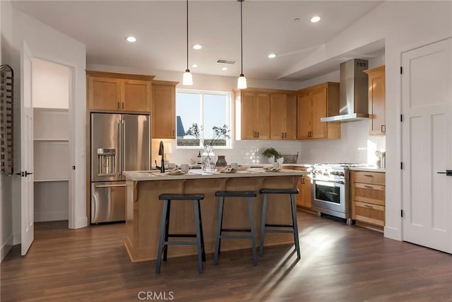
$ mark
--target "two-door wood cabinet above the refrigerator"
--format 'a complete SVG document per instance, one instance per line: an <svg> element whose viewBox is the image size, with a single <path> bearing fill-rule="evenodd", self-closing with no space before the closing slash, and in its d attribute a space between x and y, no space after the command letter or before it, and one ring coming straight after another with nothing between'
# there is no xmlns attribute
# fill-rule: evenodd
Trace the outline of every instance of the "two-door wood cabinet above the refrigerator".
<svg viewBox="0 0 452 302"><path fill-rule="evenodd" d="M150 113L154 76L86 71L88 109Z"/></svg>

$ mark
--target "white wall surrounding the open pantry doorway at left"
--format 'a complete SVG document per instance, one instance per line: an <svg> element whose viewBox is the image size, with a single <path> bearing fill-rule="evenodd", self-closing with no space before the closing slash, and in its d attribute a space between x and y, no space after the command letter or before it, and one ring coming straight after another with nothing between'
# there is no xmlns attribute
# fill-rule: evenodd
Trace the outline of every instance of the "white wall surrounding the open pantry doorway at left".
<svg viewBox="0 0 452 302"><path fill-rule="evenodd" d="M15 108L20 108L20 49L23 41L27 42L33 57L43 59L48 62L68 66L73 73L73 93L71 103L75 104L70 108L73 112L71 124L75 129L72 139L74 142L76 170L73 171L74 178L74 206L69 209L69 215L73 216L71 228L81 228L88 225L85 202L85 45L73 40L57 30L50 28L34 18L16 11L9 1L1 1L1 39L2 39L2 59L8 62L14 69L15 76ZM4 28L6 25L6 28ZM15 170L20 170L20 112L14 112L14 156ZM11 190L11 198L4 199L4 208L12 208L12 222L8 219L1 220L3 227L8 227L12 223L13 244L20 243L20 178L13 177L11 184L6 190ZM6 216L6 214L4 214ZM5 232L4 232L5 233ZM11 231L6 233L6 238L11 235ZM4 244L4 243L2 243Z"/></svg>

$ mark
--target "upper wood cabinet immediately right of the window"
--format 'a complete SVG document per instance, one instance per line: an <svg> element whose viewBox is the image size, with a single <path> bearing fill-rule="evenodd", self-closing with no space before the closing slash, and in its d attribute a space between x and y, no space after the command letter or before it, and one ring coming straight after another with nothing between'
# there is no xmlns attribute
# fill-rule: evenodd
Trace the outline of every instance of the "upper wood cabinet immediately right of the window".
<svg viewBox="0 0 452 302"><path fill-rule="evenodd" d="M270 93L256 89L234 92L241 104L242 139L270 139Z"/></svg>

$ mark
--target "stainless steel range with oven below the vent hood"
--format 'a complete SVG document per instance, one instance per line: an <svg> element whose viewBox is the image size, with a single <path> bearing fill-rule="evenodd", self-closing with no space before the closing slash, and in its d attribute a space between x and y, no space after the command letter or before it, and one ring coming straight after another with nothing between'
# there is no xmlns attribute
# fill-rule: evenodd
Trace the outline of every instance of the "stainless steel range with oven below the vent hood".
<svg viewBox="0 0 452 302"><path fill-rule="evenodd" d="M349 167L356 163L316 164L312 168L312 209L336 217L350 219Z"/></svg>

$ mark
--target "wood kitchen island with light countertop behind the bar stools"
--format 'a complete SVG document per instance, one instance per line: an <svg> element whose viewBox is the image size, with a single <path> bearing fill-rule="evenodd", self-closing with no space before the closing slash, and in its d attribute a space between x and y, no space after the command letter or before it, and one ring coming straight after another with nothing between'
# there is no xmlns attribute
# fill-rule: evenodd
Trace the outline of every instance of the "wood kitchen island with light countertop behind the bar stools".
<svg viewBox="0 0 452 302"><path fill-rule="evenodd" d="M162 193L203 193L201 215L206 252L215 250L215 228L218 216L219 190L254 190L254 226L256 242L261 231L263 187L297 187L297 181L306 172L283 169L268 172L262 168L239 170L237 173L203 172L191 170L184 175L169 175L158 171L124 171L126 176L126 249L132 262L155 260L162 213ZM279 199L279 201L278 201ZM269 196L267 223L287 224L291 221L290 199L287 196ZM249 228L246 199L228 197L225 200L223 227ZM169 230L171 233L195 233L193 202L174 202L171 207ZM266 245L293 243L290 233L266 235ZM250 240L222 240L221 249L251 248ZM196 255L196 246L170 247L168 257Z"/></svg>

